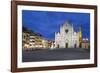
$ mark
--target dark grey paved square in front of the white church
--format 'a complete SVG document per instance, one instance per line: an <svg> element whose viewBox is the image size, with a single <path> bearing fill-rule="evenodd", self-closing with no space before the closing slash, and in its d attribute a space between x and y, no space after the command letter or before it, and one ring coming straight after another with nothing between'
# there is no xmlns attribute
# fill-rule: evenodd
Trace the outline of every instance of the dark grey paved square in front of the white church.
<svg viewBox="0 0 100 73"><path fill-rule="evenodd" d="M90 51L82 48L23 51L23 62L89 59Z"/></svg>

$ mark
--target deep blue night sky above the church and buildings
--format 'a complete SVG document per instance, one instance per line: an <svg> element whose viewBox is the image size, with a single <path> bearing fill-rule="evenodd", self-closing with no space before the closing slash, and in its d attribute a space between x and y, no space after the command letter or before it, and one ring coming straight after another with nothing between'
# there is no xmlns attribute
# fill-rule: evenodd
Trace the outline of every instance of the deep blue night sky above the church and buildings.
<svg viewBox="0 0 100 73"><path fill-rule="evenodd" d="M40 33L48 40L54 40L54 32L58 32L60 26L69 21L74 30L82 27L82 38L90 39L90 14L75 12L52 12L52 11L22 11L22 26Z"/></svg>

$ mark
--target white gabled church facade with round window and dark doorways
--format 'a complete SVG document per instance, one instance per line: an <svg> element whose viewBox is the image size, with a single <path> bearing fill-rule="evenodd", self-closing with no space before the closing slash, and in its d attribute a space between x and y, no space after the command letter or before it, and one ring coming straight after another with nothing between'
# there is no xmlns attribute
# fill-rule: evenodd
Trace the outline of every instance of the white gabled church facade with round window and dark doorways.
<svg viewBox="0 0 100 73"><path fill-rule="evenodd" d="M75 32L73 24L69 22L60 26L60 32L55 32L55 48L79 48L81 40L81 28Z"/></svg>

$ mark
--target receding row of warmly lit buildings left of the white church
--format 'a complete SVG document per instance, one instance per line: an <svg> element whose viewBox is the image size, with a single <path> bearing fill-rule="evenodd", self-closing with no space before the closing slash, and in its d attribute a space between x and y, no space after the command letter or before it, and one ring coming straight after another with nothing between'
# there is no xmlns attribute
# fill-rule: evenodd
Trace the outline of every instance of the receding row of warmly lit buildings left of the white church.
<svg viewBox="0 0 100 73"><path fill-rule="evenodd" d="M24 50L48 49L48 40L41 34L23 28L22 47Z"/></svg>

